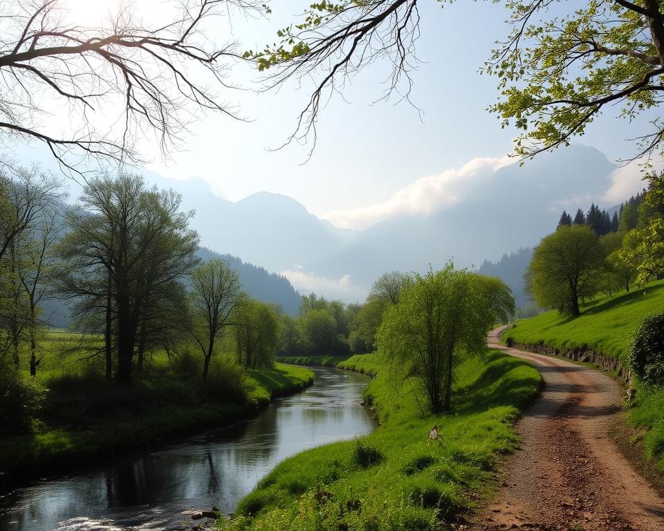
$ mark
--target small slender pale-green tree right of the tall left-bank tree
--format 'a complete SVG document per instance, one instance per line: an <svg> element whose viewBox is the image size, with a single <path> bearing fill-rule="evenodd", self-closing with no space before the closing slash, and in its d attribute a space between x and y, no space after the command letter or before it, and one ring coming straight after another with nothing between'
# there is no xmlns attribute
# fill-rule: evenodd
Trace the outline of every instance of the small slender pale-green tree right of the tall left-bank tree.
<svg viewBox="0 0 664 531"><path fill-rule="evenodd" d="M192 273L192 336L203 353L203 381L208 379L214 343L244 297L240 278L223 260L210 260Z"/></svg>

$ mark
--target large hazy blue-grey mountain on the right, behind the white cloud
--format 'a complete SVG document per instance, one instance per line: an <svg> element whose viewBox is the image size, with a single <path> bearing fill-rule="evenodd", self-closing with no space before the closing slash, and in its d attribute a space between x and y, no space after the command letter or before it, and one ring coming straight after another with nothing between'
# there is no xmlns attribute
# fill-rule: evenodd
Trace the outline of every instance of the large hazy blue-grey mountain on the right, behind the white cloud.
<svg viewBox="0 0 664 531"><path fill-rule="evenodd" d="M471 267L536 245L555 230L563 208L586 207L611 185L616 168L596 149L571 146L515 162L493 174L465 201L430 215L400 216L358 234L346 249L306 263L324 277L350 274L368 286L389 270L423 272L453 260Z"/></svg>

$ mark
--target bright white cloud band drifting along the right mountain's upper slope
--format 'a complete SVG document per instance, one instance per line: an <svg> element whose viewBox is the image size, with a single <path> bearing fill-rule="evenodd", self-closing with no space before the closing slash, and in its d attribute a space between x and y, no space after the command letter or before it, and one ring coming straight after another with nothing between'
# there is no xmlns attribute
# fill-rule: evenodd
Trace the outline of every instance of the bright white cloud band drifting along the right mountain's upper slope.
<svg viewBox="0 0 664 531"><path fill-rule="evenodd" d="M348 210L333 210L323 218L342 228L365 229L374 223L403 214L431 214L463 201L473 189L490 178L513 158L474 158L459 169L419 178L400 189L385 203Z"/></svg>

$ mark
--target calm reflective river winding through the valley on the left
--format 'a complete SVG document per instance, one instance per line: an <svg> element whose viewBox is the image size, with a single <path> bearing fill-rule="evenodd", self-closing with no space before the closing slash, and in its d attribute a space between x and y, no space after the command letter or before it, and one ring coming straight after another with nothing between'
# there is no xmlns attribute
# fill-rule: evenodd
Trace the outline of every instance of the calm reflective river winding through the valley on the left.
<svg viewBox="0 0 664 531"><path fill-rule="evenodd" d="M367 377L314 371L313 386L250 420L3 494L0 531L176 530L194 510L233 512L284 458L374 429L360 404Z"/></svg>

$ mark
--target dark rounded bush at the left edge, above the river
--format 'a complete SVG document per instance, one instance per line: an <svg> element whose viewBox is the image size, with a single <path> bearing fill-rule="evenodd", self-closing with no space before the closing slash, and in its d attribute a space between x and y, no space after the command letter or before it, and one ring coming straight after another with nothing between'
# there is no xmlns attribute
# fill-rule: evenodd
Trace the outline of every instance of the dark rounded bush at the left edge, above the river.
<svg viewBox="0 0 664 531"><path fill-rule="evenodd" d="M45 396L46 389L35 378L0 366L0 437L30 433Z"/></svg>

